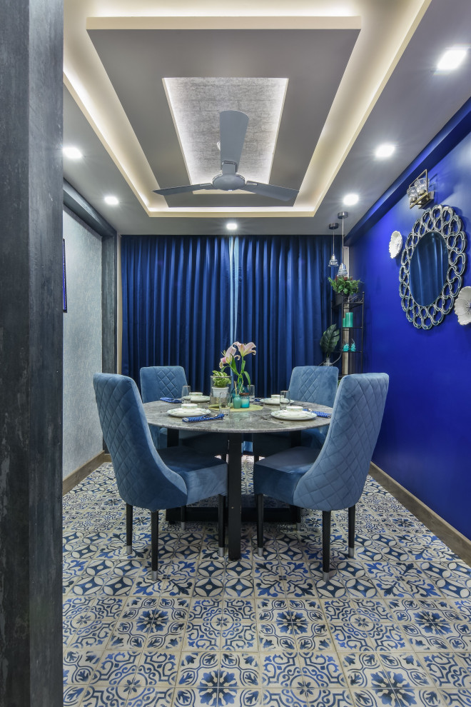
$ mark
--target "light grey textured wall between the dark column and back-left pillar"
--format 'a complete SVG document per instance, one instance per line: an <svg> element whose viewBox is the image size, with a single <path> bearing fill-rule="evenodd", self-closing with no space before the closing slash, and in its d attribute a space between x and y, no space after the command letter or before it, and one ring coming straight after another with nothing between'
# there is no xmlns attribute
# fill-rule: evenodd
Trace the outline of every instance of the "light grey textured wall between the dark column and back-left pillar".
<svg viewBox="0 0 471 707"><path fill-rule="evenodd" d="M64 208L63 476L103 449L92 376L101 371L101 238Z"/></svg>

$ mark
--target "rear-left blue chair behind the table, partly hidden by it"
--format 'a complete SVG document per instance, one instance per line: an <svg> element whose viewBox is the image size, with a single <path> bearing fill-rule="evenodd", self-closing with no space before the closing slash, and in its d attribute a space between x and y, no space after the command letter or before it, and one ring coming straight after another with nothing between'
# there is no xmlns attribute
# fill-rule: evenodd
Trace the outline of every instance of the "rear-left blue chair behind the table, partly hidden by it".
<svg viewBox="0 0 471 707"><path fill-rule="evenodd" d="M145 366L141 368L141 395L144 403L152 403L161 398L180 398L183 386L186 386L186 374L182 366ZM166 428L151 425L150 429L156 448L166 448ZM178 441L183 446L196 449L204 454L226 457L228 451L228 436L218 432L181 430Z"/></svg>

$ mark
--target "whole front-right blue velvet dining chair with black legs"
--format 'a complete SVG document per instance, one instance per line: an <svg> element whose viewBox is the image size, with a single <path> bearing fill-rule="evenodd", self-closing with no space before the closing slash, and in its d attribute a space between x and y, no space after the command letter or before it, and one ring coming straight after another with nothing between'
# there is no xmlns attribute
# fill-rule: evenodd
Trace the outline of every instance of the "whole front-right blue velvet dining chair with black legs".
<svg viewBox="0 0 471 707"><path fill-rule="evenodd" d="M355 506L380 433L389 376L358 373L338 386L323 447L293 447L253 467L257 546L263 554L263 496L323 513L323 578L330 577L330 514L348 508L348 555L355 556Z"/></svg>

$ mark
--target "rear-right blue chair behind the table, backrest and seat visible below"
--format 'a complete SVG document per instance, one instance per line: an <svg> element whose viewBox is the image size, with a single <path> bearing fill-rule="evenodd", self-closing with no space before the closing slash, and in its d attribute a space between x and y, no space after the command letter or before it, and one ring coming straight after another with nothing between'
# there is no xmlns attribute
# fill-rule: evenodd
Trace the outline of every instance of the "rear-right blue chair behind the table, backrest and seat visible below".
<svg viewBox="0 0 471 707"><path fill-rule="evenodd" d="M290 396L293 400L305 403L318 403L332 407L337 393L337 366L295 366L291 373ZM327 426L312 430L303 430L301 445L320 449L325 441ZM291 446L289 432L262 433L253 436L252 449L254 461L260 456L275 454Z"/></svg>

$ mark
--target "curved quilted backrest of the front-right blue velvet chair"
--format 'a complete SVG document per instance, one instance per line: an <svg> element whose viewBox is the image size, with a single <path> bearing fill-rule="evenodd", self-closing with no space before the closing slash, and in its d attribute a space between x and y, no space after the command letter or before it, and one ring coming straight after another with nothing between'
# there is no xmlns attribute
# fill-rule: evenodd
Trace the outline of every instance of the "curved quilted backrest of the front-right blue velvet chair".
<svg viewBox="0 0 471 707"><path fill-rule="evenodd" d="M363 493L388 393L386 373L359 373L340 381L323 448L298 482L293 502L338 511Z"/></svg>

